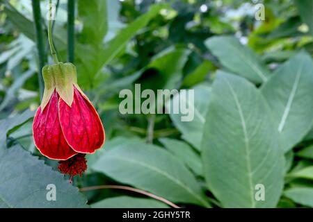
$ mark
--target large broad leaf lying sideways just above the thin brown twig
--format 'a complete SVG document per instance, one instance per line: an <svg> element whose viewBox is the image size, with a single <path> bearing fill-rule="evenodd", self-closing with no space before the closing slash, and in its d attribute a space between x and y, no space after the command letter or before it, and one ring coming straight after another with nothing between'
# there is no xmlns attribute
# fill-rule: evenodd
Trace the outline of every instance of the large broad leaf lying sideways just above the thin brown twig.
<svg viewBox="0 0 313 222"><path fill-rule="evenodd" d="M158 146L123 144L104 153L91 168L176 203L209 206L193 174Z"/></svg>

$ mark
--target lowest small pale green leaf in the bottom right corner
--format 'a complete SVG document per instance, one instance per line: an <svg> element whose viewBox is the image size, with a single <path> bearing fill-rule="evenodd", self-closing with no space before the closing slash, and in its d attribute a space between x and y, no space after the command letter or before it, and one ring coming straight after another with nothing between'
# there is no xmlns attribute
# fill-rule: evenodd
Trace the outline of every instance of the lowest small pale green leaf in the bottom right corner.
<svg viewBox="0 0 313 222"><path fill-rule="evenodd" d="M313 207L313 188L294 187L284 191L284 196L301 205Z"/></svg>

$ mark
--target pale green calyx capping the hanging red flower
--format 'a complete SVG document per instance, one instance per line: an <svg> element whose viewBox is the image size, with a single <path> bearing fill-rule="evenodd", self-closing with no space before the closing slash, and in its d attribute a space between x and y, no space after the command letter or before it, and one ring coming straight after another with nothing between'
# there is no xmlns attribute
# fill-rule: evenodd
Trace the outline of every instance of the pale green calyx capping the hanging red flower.
<svg viewBox="0 0 313 222"><path fill-rule="evenodd" d="M42 68L42 77L45 81L45 91L40 105L42 110L45 109L54 89L67 105L72 105L74 86L79 89L76 67L72 63L58 62L54 65L46 65Z"/></svg>

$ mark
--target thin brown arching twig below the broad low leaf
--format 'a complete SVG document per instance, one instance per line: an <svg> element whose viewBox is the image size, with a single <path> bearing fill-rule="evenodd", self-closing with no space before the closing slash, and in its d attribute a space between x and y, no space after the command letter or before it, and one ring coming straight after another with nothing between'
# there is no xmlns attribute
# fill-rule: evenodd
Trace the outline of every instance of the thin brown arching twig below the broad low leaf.
<svg viewBox="0 0 313 222"><path fill-rule="evenodd" d="M143 194L145 196L150 196L151 198L154 198L156 200L160 200L163 203L170 205L171 207L180 208L179 206L175 205L175 203L170 202L170 200L166 200L165 198L162 198L161 196L157 196L157 195L151 194L147 191L144 191L142 189L136 189L134 187L126 187L126 186L120 186L120 185L99 185L99 186L93 186L93 187L83 187L79 190L80 191L90 191L90 190L95 190L95 189L125 189L125 190L129 190L129 191L134 191L138 194Z"/></svg>

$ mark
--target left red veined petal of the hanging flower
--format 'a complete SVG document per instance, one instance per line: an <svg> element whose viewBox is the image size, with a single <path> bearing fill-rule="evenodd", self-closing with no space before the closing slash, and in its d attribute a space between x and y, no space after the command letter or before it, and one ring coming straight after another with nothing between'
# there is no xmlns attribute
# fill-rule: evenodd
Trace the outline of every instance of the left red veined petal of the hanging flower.
<svg viewBox="0 0 313 222"><path fill-rule="evenodd" d="M77 153L67 144L58 121L58 94L54 91L44 111L39 107L33 119L33 139L42 155L67 160Z"/></svg>

